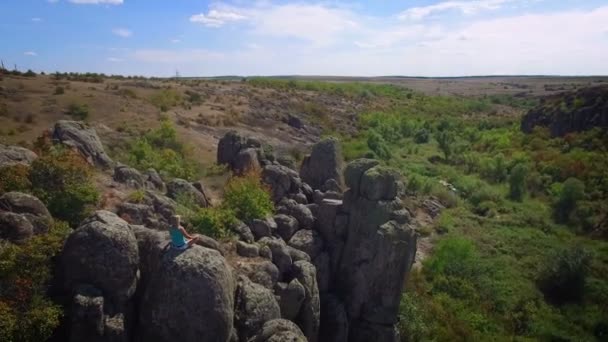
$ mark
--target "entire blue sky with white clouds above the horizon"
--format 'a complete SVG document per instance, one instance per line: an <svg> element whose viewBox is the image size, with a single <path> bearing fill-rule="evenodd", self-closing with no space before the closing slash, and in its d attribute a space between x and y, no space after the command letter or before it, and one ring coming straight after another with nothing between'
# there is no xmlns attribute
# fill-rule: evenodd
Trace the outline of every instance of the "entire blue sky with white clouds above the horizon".
<svg viewBox="0 0 608 342"><path fill-rule="evenodd" d="M126 75L608 74L608 0L2 0L0 58Z"/></svg>

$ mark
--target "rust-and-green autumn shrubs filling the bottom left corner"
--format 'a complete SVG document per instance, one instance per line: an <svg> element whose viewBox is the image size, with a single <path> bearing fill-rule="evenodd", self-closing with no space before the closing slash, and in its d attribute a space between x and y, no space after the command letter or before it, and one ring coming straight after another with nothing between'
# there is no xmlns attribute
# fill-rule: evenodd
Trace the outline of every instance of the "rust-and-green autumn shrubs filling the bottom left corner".
<svg viewBox="0 0 608 342"><path fill-rule="evenodd" d="M46 296L53 259L69 226L56 221L23 245L0 243L0 339L45 341L59 326L61 307Z"/></svg>

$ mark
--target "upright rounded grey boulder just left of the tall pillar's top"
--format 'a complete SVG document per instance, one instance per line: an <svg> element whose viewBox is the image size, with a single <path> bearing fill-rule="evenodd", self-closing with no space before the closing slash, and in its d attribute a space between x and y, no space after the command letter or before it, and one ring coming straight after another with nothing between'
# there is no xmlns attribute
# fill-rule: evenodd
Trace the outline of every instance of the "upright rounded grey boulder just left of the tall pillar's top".
<svg viewBox="0 0 608 342"><path fill-rule="evenodd" d="M310 156L302 161L300 177L313 189L321 189L330 179L342 184L342 152L338 140L328 138L316 143Z"/></svg>

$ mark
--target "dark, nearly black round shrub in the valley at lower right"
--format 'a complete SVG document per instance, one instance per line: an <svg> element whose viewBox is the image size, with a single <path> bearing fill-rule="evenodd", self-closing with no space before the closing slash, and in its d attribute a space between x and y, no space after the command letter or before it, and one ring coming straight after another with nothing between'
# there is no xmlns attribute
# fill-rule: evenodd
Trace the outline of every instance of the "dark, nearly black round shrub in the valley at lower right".
<svg viewBox="0 0 608 342"><path fill-rule="evenodd" d="M582 247L559 250L549 256L538 284L556 304L580 301L584 294L590 255Z"/></svg>

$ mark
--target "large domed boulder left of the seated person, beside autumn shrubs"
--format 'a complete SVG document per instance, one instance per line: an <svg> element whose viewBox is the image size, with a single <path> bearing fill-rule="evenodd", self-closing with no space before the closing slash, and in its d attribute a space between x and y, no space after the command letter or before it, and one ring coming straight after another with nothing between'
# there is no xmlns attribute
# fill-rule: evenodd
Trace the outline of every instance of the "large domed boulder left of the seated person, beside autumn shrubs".
<svg viewBox="0 0 608 342"><path fill-rule="evenodd" d="M108 211L95 212L70 234L61 262L68 290L90 284L124 303L137 287L137 240L127 222Z"/></svg>

